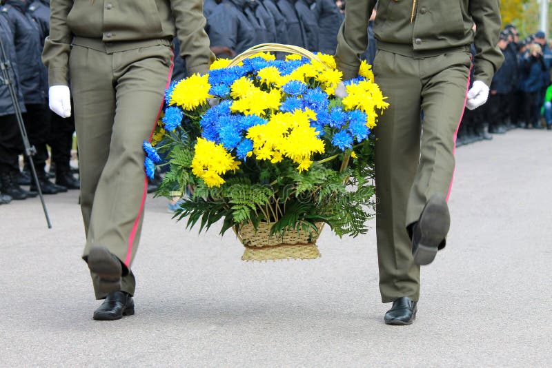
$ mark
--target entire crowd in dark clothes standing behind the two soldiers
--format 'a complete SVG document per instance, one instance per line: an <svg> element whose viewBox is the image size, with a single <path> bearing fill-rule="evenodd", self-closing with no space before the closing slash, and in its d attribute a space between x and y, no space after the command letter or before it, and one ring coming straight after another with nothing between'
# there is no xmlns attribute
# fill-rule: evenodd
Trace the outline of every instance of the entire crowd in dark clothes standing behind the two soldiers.
<svg viewBox="0 0 552 368"><path fill-rule="evenodd" d="M36 148L32 162L43 194L79 188L77 170L70 165L75 122L72 117L62 119L48 108L48 72L41 62L41 52L49 32L49 3L3 0L0 7L0 57L9 63L8 79L23 112L29 143ZM210 48L217 57L225 58L260 43L291 44L334 54L344 6L344 0L204 0ZM361 56L368 63L373 62L376 51L372 32L375 16L373 12L368 48ZM177 40L173 42L178 54ZM466 109L457 145L492 139L492 134L503 134L514 127L552 129L552 50L546 34L539 31L520 39L515 26L506 25L498 47L504 54L504 65L493 78L489 101L473 111ZM184 60L177 57L172 79L185 76ZM1 204L36 196L37 187L28 160L20 164L25 147L6 81L0 85L0 107ZM155 191L160 181L158 172L148 192Z"/></svg>

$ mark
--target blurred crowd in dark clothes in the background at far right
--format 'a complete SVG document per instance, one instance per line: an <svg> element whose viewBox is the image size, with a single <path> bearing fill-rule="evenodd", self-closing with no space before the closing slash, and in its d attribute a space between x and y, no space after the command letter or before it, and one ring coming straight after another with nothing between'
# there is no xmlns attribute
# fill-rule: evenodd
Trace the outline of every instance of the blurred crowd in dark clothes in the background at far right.
<svg viewBox="0 0 552 368"><path fill-rule="evenodd" d="M540 30L520 39L517 28L509 24L500 32L498 48L504 64L493 77L489 100L464 111L457 146L514 128L552 130L552 50L546 34Z"/></svg>

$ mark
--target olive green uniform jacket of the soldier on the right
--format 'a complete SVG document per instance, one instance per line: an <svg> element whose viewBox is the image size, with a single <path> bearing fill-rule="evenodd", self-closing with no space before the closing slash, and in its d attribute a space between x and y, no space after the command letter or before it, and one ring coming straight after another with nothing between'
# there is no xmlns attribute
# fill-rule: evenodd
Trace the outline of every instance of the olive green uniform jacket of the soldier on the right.
<svg viewBox="0 0 552 368"><path fill-rule="evenodd" d="M336 61L344 79L357 76L368 43L368 18L376 0L347 1L337 36ZM374 21L377 48L411 57L432 57L475 43L474 79L491 85L502 65L497 48L499 0L380 0ZM472 26L478 28L473 32ZM467 49L469 50L469 49Z"/></svg>

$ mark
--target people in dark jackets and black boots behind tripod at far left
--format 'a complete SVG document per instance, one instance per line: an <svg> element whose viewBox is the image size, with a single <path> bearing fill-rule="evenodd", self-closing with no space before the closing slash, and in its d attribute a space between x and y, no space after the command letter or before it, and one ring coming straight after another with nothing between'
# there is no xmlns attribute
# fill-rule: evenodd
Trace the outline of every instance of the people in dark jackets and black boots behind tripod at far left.
<svg viewBox="0 0 552 368"><path fill-rule="evenodd" d="M20 165L19 157L26 150L20 121L30 146L36 150L32 163L41 192L56 194L79 189L79 180L70 165L75 122L61 119L48 108L48 72L41 54L49 22L48 0L3 0L0 6L0 60L6 70L0 85L0 203L38 193L27 157L23 167Z"/></svg>

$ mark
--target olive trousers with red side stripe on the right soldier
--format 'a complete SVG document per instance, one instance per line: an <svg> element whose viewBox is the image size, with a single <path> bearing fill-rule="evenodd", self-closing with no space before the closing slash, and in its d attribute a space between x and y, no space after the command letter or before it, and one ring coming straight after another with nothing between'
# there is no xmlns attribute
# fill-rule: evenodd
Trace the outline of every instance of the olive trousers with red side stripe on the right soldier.
<svg viewBox="0 0 552 368"><path fill-rule="evenodd" d="M379 50L375 82L389 108L375 128L376 237L382 302L420 298L420 266L407 226L432 194L449 195L456 132L462 119L471 56L456 51L413 58Z"/></svg>

